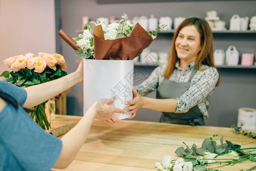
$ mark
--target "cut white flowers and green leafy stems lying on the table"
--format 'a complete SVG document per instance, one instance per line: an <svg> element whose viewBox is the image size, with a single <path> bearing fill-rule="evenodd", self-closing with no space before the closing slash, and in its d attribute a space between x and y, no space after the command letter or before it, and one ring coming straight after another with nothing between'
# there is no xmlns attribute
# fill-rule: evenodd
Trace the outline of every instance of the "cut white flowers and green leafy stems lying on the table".
<svg viewBox="0 0 256 171"><path fill-rule="evenodd" d="M241 149L241 146L238 144L233 144L230 141L226 140L226 143L223 143L224 137L221 137L220 145L217 145L216 141L213 140L214 137L218 135L213 135L208 139L205 139L202 142L201 148L197 148L196 144L193 144L192 148L189 148L185 144L186 148L183 146L179 147L176 150L178 156L183 158L178 158L177 160L171 160L171 156L165 156L162 159L162 162L155 162L155 167L157 170L173 170L173 171L217 171L222 166L234 165L243 161L256 161L256 151L255 148L244 148ZM229 158L217 158L227 154ZM193 157L197 156L197 157ZM209 164L220 164L215 168L209 168ZM247 169L253 170L256 166Z"/></svg>

